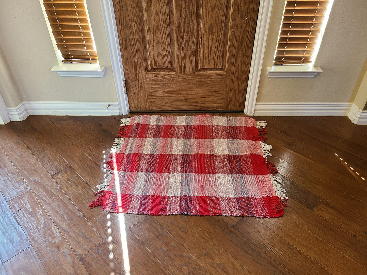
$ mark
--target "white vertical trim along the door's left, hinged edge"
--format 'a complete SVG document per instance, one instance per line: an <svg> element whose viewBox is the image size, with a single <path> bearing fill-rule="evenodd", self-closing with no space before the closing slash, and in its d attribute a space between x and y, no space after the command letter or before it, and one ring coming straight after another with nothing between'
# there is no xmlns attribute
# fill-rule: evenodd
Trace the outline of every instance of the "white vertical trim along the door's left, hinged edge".
<svg viewBox="0 0 367 275"><path fill-rule="evenodd" d="M112 0L101 0L103 22L105 22L108 49L110 51L113 78L119 102L120 114L128 114L129 103L124 90L124 69L122 66L119 36L117 35L117 26L115 12L113 10Z"/></svg>

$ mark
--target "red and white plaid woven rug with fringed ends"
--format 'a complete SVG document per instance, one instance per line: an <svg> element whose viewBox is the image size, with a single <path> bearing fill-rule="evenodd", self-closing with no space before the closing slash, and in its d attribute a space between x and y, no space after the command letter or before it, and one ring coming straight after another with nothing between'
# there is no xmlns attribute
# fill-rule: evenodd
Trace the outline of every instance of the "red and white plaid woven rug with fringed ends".
<svg viewBox="0 0 367 275"><path fill-rule="evenodd" d="M279 217L284 189L266 122L250 117L121 119L96 201L108 212Z"/></svg>

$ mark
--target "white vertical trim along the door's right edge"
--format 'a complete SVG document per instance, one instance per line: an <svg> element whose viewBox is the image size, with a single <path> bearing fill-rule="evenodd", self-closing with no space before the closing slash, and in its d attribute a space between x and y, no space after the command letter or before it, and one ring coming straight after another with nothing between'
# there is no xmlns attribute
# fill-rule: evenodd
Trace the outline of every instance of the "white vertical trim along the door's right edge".
<svg viewBox="0 0 367 275"><path fill-rule="evenodd" d="M273 0L260 1L259 15L255 32L254 49L252 50L250 75L248 76L248 85L244 109L244 113L247 115L254 115L272 6Z"/></svg>

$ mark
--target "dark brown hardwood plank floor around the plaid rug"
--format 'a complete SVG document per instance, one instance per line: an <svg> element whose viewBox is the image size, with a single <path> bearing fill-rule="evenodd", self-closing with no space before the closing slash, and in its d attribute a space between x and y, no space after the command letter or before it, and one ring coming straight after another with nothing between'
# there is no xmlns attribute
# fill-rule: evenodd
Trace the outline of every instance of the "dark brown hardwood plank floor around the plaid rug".
<svg viewBox="0 0 367 275"><path fill-rule="evenodd" d="M367 274L367 125L255 117L268 122L283 217L146 216L88 208L119 118L0 125L1 275Z"/></svg>

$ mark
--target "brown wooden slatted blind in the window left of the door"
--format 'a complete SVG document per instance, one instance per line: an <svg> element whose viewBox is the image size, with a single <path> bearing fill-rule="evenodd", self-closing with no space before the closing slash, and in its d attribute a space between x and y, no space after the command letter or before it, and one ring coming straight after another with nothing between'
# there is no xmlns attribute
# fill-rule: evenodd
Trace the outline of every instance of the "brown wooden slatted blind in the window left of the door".
<svg viewBox="0 0 367 275"><path fill-rule="evenodd" d="M97 63L84 0L43 0L63 62Z"/></svg>

